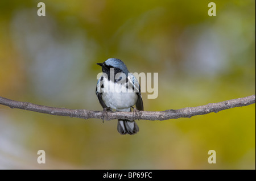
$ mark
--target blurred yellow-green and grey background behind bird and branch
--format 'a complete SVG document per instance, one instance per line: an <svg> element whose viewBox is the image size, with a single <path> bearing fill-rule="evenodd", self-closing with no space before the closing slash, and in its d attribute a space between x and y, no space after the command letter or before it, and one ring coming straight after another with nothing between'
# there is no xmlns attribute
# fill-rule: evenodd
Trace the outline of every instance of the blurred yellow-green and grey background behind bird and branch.
<svg viewBox="0 0 256 181"><path fill-rule="evenodd" d="M158 73L144 110L255 94L255 1L0 1L0 96L102 110L97 62ZM0 105L0 169L255 169L255 104L166 121L77 119ZM38 164L38 150L46 164ZM208 151L216 151L216 164Z"/></svg>

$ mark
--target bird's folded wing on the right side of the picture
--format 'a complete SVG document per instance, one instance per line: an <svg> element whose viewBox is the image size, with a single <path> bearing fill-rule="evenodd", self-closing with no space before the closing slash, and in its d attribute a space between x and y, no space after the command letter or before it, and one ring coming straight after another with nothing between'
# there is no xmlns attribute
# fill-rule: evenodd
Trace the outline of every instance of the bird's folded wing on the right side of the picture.
<svg viewBox="0 0 256 181"><path fill-rule="evenodd" d="M138 99L136 102L136 108L137 110L143 111L144 107L143 107L143 101L142 101L142 96L141 96L141 86L139 86L139 82L137 81L137 79L134 77L133 74L128 76L128 87L133 87L134 92L136 92L136 94L138 95Z"/></svg>

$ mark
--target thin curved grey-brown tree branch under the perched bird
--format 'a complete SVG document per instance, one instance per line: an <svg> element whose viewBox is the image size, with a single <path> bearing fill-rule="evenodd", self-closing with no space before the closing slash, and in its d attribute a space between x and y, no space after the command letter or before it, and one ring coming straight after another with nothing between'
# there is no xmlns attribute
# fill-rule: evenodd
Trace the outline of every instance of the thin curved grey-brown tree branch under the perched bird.
<svg viewBox="0 0 256 181"><path fill-rule="evenodd" d="M141 119L141 120L168 120L177 119L180 117L192 117L196 115L205 115L210 112L219 112L234 107L248 106L255 103L255 95L247 96L245 98L238 98L232 100L226 100L220 103L210 103L204 106L187 107L180 110L166 110L166 111L139 111L135 112L108 112L104 117L105 120L112 119ZM92 110L70 110L67 108L56 108L48 106L40 106L28 102L19 102L11 99L6 99L0 96L0 104L9 106L10 108L18 108L21 110L35 111L41 113L47 113L49 115L56 116L69 116L78 117L82 119L102 118L102 111Z"/></svg>

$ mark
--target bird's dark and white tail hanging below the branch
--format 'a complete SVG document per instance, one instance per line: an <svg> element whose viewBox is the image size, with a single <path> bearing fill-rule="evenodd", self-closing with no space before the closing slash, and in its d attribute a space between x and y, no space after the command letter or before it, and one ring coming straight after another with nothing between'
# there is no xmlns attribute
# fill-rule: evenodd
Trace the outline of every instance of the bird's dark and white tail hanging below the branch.
<svg viewBox="0 0 256 181"><path fill-rule="evenodd" d="M117 131L120 134L135 134L139 131L139 127L135 121L118 119Z"/></svg>

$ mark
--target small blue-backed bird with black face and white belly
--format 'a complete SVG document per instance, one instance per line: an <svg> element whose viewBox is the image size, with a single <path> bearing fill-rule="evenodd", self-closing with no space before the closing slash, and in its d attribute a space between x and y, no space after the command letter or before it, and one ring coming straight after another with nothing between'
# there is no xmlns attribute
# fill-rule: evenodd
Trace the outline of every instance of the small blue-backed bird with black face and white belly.
<svg viewBox="0 0 256 181"><path fill-rule="evenodd" d="M141 87L125 63L117 58L109 58L103 63L103 75L98 79L96 95L104 110L130 112L136 104L136 109L143 111ZM117 131L120 134L135 134L139 131L135 121L118 119Z"/></svg>

